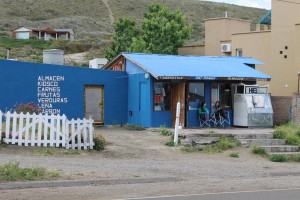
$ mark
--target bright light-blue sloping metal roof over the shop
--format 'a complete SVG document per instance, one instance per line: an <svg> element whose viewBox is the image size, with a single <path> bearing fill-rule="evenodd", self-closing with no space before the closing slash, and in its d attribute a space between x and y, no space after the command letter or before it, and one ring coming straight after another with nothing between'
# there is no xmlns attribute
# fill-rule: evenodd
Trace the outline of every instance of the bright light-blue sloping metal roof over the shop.
<svg viewBox="0 0 300 200"><path fill-rule="evenodd" d="M247 64L263 64L248 57L178 56L122 53L156 79L266 80L271 77Z"/></svg>

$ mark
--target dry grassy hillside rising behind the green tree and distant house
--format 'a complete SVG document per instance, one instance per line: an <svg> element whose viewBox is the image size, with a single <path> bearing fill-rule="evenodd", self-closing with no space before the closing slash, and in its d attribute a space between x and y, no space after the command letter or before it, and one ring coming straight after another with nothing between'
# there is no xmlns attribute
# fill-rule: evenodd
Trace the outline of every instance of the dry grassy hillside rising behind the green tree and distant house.
<svg viewBox="0 0 300 200"><path fill-rule="evenodd" d="M171 10L181 10L194 29L189 42L198 43L204 39L203 19L222 17L227 11L229 17L249 19L255 24L266 12L199 0L0 0L0 36L10 37L11 30L21 25L74 28L76 40L90 44L92 49L101 46L102 50L113 35L111 18L130 17L139 24L147 5L153 2L165 4Z"/></svg>

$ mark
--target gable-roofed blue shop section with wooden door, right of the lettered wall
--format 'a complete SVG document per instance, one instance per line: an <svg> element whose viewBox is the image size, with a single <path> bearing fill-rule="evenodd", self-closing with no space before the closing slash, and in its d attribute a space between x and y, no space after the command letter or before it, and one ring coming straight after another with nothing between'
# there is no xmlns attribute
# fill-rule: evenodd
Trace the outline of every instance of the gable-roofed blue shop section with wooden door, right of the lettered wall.
<svg viewBox="0 0 300 200"><path fill-rule="evenodd" d="M128 74L129 124L174 126L181 102L181 125L199 127L201 102L210 109L220 101L232 118L233 85L271 79L255 70L257 64L262 63L246 57L121 53L104 68Z"/></svg>

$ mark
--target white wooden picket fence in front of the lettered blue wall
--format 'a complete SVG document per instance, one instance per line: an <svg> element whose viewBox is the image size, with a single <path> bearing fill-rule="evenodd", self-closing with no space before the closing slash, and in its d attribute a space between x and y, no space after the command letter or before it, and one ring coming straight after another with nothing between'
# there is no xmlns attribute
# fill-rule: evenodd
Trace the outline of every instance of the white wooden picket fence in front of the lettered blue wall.
<svg viewBox="0 0 300 200"><path fill-rule="evenodd" d="M94 146L94 121L92 119L70 121L65 115L18 114L0 111L0 122L0 133L6 144L79 150L93 149Z"/></svg>

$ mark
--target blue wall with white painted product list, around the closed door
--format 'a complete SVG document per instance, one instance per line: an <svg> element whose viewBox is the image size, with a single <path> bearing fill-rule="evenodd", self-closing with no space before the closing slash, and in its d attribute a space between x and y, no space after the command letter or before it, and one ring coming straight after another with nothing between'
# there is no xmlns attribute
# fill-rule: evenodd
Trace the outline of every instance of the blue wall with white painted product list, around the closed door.
<svg viewBox="0 0 300 200"><path fill-rule="evenodd" d="M55 81L49 81L55 79ZM43 84L54 84L42 87ZM127 123L127 74L120 71L47 65L17 61L0 61L0 110L8 111L17 104L34 102L44 105L54 101L47 112L59 112L68 118L84 117L84 87L104 86L104 123ZM54 96L53 96L54 95ZM5 98L4 98L5 97ZM56 103L55 103L56 102ZM52 110L51 110L52 109Z"/></svg>

